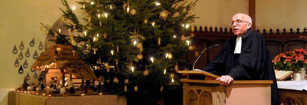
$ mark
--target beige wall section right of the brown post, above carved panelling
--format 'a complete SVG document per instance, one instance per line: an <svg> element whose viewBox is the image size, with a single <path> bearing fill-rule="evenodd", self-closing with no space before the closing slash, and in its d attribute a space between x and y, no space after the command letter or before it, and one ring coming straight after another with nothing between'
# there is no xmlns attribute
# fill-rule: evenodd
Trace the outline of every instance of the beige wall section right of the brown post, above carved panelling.
<svg viewBox="0 0 307 105"><path fill-rule="evenodd" d="M307 24L306 0L256 0L256 28L261 32L272 28L301 30Z"/></svg>

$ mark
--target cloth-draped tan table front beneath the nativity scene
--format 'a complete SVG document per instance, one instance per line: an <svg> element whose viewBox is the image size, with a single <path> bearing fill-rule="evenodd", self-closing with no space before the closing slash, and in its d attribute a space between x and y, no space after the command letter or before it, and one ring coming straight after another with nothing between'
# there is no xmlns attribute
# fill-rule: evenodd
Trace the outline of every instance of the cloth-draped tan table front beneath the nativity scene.
<svg viewBox="0 0 307 105"><path fill-rule="evenodd" d="M8 105L126 105L126 97L117 95L47 97L10 91Z"/></svg>

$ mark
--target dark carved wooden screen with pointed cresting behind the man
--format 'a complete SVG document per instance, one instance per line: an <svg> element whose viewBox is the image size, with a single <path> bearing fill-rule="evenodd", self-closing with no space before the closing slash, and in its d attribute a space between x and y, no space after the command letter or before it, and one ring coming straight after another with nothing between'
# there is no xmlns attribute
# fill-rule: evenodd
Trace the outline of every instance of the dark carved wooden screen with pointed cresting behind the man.
<svg viewBox="0 0 307 105"><path fill-rule="evenodd" d="M195 64L195 69L203 69L210 61L218 54L223 44L233 36L232 29L220 27L218 31L217 27L212 30L212 27L207 30L207 27L204 28L203 31L202 27L199 27L199 31L197 31L197 27L193 28L193 34L195 37L193 38L192 45L196 46L196 49L193 50L191 53L188 54L187 60L192 61L196 58L195 52L200 54L205 48L210 47L215 44L220 44L219 47L214 47L209 49L207 52L204 53L200 57L200 59ZM293 31L291 28L289 32L286 29L283 29L283 32L279 32L279 29L276 32L273 32L272 29L269 32L266 32L263 29L263 32L260 32L257 29L257 32L262 34L266 38L266 45L270 52L271 59L273 59L276 55L280 53L284 53L286 51L292 51L293 49L307 49L307 32L306 28L303 31L297 28L296 31ZM189 69L192 70L193 63L190 64Z"/></svg>

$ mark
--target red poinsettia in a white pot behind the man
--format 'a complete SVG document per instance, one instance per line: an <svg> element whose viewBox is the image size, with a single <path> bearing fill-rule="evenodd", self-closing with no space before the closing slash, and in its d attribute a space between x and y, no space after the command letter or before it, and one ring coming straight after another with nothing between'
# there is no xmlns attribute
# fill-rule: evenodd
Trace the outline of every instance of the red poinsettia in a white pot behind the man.
<svg viewBox="0 0 307 105"><path fill-rule="evenodd" d="M272 60L275 70L293 70L293 80L301 81L304 79L307 68L307 51L306 49L294 49L293 51L281 53Z"/></svg>

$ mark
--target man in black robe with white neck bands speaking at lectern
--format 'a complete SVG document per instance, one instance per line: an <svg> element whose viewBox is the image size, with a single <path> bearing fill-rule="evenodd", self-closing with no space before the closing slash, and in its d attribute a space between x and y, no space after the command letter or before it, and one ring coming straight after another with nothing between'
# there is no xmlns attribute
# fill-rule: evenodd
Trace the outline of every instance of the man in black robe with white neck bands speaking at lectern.
<svg viewBox="0 0 307 105"><path fill-rule="evenodd" d="M220 85L233 80L272 80L271 104L278 105L276 77L264 37L251 29L251 17L246 14L235 14L230 24L235 36L225 42L203 71L220 75L216 79Z"/></svg>

